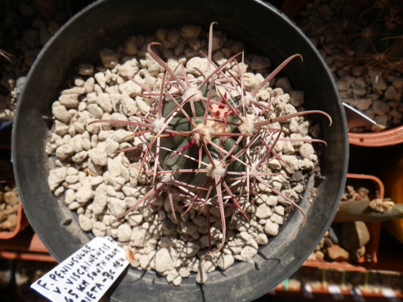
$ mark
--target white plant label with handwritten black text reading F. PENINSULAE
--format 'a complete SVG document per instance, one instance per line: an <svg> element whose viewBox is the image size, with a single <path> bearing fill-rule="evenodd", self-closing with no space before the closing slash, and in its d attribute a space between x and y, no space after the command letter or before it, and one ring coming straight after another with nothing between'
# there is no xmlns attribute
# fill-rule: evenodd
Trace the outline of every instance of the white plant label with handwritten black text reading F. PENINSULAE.
<svg viewBox="0 0 403 302"><path fill-rule="evenodd" d="M111 237L95 237L31 287L53 302L96 302L128 264Z"/></svg>

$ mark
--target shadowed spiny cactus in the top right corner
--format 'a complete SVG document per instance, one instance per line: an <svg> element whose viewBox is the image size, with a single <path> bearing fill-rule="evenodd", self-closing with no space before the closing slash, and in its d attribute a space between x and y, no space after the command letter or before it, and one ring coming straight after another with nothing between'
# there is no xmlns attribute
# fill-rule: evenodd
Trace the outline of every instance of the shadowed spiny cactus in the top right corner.
<svg viewBox="0 0 403 302"><path fill-rule="evenodd" d="M347 57L383 73L403 71L403 2L345 2L338 11L342 16L338 43L345 45Z"/></svg>

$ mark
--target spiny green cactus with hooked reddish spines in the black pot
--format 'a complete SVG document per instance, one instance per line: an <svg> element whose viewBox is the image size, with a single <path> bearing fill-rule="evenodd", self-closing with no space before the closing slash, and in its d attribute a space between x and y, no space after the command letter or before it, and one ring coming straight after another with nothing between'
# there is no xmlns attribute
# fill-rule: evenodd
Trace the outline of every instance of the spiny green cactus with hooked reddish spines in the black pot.
<svg viewBox="0 0 403 302"><path fill-rule="evenodd" d="M214 24L214 23L213 23ZM275 102L258 102L256 95L267 86L285 65L299 54L294 54L281 63L260 85L251 92L244 88L242 65L236 60L242 53L217 66L212 57L212 32L210 26L207 72L200 72L203 80L189 79L182 63L177 75L153 50L159 43L150 43L148 53L164 69L159 94L148 91L144 98L155 100L153 109L140 116L139 121L95 120L92 123L116 123L133 128L141 144L119 152L136 150L140 153L139 173L149 178L151 189L122 216L135 209L145 200L153 203L161 194L166 194L176 220L173 199L180 197L185 204L185 214L195 208L205 212L210 225L211 206L218 207L221 215L222 242L212 253L219 252L225 242L226 223L224 208L232 207L233 215L239 211L248 219L242 209L241 200L249 200L258 183L269 188L296 207L302 209L287 196L273 188L265 179L273 173L263 172L272 159L278 158L274 150L280 138L281 128L271 127L275 122L287 121L296 116L319 113L322 111L303 111L276 117L271 105ZM238 74L223 69L234 62ZM229 74L229 75L228 75ZM136 84L142 86L140 83ZM297 140L297 139L296 139ZM324 142L320 139L300 141ZM267 171L267 169L265 170ZM305 215L304 215L305 219ZM305 220L304 220L305 222ZM211 251L210 228L208 228L209 250Z"/></svg>

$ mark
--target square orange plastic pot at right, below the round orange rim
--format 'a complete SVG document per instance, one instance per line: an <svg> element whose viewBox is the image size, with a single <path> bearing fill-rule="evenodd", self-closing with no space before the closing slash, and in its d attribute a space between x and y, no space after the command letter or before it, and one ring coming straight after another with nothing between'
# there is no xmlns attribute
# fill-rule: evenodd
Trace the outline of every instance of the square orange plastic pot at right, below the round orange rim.
<svg viewBox="0 0 403 302"><path fill-rule="evenodd" d="M402 161L403 164L403 161ZM403 174L402 174L403 176ZM366 183L366 187L373 188L370 190L370 198L383 198L385 194L385 189L382 181L372 175L366 174L352 174L347 173L347 183L349 180L362 180L363 183ZM403 181L403 177L402 177ZM403 183L402 183L403 184ZM403 187L402 187L403 188ZM403 202L403 196L402 196ZM403 220L403 219L402 219ZM340 269L340 270L348 270L348 271L365 271L368 268L373 267L378 261L378 247L379 247L379 237L381 232L381 222L367 222L366 223L369 234L370 241L365 246L366 253L365 256L361 257L357 263L349 263L346 261L334 261L327 262L325 260L307 260L304 262L304 266L310 267L318 267L318 268L329 268L329 269ZM402 224L403 225L403 224Z"/></svg>

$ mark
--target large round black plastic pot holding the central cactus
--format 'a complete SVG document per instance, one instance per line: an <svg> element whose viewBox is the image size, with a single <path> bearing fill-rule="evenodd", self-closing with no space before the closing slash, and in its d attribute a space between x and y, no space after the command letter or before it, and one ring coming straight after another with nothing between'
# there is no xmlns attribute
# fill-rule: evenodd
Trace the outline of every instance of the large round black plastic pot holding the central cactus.
<svg viewBox="0 0 403 302"><path fill-rule="evenodd" d="M327 112L333 119L318 118L327 147L321 156L322 180L313 202L300 205L307 215L293 211L280 234L259 250L254 263L237 263L226 271L209 275L205 285L195 275L179 287L167 284L154 272L129 269L111 292L116 301L244 301L256 298L290 276L313 251L337 210L344 188L348 142L344 109L331 74L319 53L303 33L276 9L259 1L205 0L98 1L73 17L49 41L33 65L19 102L13 130L13 161L16 181L26 214L40 239L58 261L87 243L92 234L81 231L76 214L52 195L48 184L45 143L51 104L79 63L94 62L97 51L121 43L132 34L152 33L160 27L198 24L225 31L245 42L249 52L270 57L273 65L294 53L284 74L294 89L305 92L305 107Z"/></svg>

